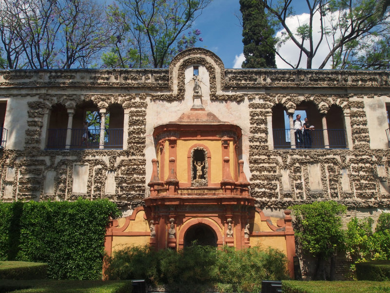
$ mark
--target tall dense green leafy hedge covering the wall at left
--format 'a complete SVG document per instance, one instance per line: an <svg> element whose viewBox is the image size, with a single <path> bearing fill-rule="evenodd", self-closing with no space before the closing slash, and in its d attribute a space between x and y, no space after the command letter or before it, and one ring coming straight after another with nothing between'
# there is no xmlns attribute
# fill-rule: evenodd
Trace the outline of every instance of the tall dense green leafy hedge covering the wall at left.
<svg viewBox="0 0 390 293"><path fill-rule="evenodd" d="M113 214L106 199L0 203L0 260L45 262L54 279L100 279Z"/></svg>

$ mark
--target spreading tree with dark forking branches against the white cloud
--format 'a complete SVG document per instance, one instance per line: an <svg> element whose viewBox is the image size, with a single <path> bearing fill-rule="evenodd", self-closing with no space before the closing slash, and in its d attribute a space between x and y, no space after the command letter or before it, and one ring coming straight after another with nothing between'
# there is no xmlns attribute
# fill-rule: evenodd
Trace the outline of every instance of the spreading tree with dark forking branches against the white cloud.
<svg viewBox="0 0 390 293"><path fill-rule="evenodd" d="M292 68L301 67L302 55L306 56L306 68L318 56L321 46L329 53L322 58L319 68L328 61L332 68L388 68L389 15L375 17L375 0L307 0L308 20L299 23L296 31L289 25L294 16L292 1L260 0L275 31L282 30L275 38L275 53ZM299 21L299 20L298 20ZM318 26L318 27L317 27ZM314 35L319 34L318 40ZM299 57L294 63L279 53L280 47L291 40L299 48ZM381 44L386 43L383 47ZM269 44L272 47L272 44ZM378 53L377 49L383 49ZM368 58L365 52L371 52Z"/></svg>

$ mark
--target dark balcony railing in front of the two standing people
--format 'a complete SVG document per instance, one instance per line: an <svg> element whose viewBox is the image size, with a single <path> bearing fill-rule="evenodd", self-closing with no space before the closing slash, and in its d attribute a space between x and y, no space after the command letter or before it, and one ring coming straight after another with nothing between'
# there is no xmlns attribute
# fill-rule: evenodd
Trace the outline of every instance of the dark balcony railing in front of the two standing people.
<svg viewBox="0 0 390 293"><path fill-rule="evenodd" d="M275 149L290 149L292 145L295 148L306 149L345 149L347 142L344 129L326 129L328 134L329 146L324 142L324 130L311 130L310 132L302 133L302 136L297 135L295 141L295 133L292 129L273 129L273 147ZM291 138L292 133L292 138ZM292 143L291 143L292 139Z"/></svg>

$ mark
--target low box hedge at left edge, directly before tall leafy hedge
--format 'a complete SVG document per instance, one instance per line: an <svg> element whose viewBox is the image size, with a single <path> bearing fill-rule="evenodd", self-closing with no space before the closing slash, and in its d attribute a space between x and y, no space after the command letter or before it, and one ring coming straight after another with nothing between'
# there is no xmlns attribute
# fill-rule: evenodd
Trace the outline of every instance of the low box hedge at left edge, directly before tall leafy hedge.
<svg viewBox="0 0 390 293"><path fill-rule="evenodd" d="M0 261L0 279L46 279L47 264L40 262Z"/></svg>

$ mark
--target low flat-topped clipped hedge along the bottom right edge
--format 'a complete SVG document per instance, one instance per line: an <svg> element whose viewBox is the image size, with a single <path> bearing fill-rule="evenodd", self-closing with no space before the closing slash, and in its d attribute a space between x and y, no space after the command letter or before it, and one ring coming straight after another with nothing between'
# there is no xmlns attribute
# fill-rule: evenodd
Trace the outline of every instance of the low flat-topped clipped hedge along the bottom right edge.
<svg viewBox="0 0 390 293"><path fill-rule="evenodd" d="M282 281L283 293L390 293L390 282Z"/></svg>

